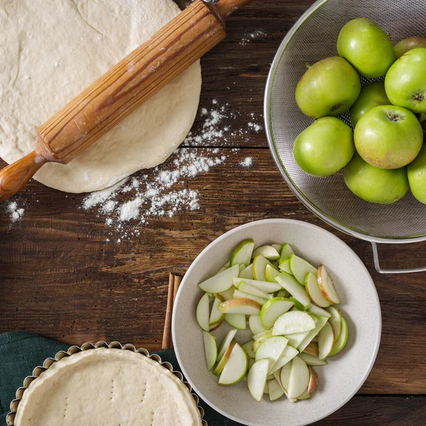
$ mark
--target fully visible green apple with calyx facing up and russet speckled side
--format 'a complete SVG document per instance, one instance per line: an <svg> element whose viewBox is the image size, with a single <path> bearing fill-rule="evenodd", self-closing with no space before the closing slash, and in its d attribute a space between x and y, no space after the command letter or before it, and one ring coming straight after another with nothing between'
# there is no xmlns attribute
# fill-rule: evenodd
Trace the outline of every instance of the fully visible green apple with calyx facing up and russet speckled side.
<svg viewBox="0 0 426 426"><path fill-rule="evenodd" d="M417 157L422 148L423 131L416 116L408 109L381 105L359 119L354 141L356 151L367 163L378 168L396 169Z"/></svg>

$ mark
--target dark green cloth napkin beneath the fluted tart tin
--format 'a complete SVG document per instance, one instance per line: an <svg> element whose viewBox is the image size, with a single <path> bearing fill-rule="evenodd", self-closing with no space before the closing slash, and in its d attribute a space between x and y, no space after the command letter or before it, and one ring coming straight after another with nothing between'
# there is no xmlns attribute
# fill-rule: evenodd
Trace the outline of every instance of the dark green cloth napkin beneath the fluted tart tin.
<svg viewBox="0 0 426 426"><path fill-rule="evenodd" d="M58 351L67 351L69 347L28 332L0 334L0 426L6 425L9 405L15 398L16 389L23 386L23 379L31 376L33 369L42 365L46 358L53 358ZM160 351L157 354L180 371L175 351ZM209 426L239 426L239 423L220 415L204 401L200 400L200 405L204 408L204 420Z"/></svg>

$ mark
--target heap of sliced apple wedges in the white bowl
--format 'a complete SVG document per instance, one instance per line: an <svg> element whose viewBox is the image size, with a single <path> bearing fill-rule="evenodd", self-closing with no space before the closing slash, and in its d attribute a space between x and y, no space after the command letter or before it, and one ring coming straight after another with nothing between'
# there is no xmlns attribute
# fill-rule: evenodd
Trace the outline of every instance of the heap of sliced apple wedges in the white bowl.
<svg viewBox="0 0 426 426"><path fill-rule="evenodd" d="M315 268L296 256L289 244L254 249L253 239L236 246L227 262L199 284L197 321L202 328L208 370L219 385L246 380L253 398L285 395L291 402L310 398L318 385L313 366L344 348L348 327L324 265ZM251 339L236 341L246 329ZM221 346L212 334L224 322L233 329Z"/></svg>

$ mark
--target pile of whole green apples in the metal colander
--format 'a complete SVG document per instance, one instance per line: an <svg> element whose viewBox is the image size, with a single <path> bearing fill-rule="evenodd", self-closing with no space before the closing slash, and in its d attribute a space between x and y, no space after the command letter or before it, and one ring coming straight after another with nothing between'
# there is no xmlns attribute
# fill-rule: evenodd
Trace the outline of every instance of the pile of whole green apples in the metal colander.
<svg viewBox="0 0 426 426"><path fill-rule="evenodd" d="M426 38L395 47L368 18L346 23L339 56L310 66L297 84L300 110L316 121L293 152L310 175L344 169L344 182L368 202L392 204L411 189L426 204ZM371 81L361 87L361 77ZM349 111L351 127L337 118Z"/></svg>

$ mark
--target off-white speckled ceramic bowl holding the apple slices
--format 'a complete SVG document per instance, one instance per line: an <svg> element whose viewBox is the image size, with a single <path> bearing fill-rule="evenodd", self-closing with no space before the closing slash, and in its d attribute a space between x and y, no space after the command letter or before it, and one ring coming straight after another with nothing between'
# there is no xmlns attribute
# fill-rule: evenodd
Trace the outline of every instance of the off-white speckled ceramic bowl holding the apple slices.
<svg viewBox="0 0 426 426"><path fill-rule="evenodd" d="M197 287L226 261L243 239L256 246L288 242L295 252L315 266L321 263L334 280L342 303L339 309L348 322L349 338L344 350L329 358L329 365L315 367L319 387L309 400L292 404L285 398L261 403L253 400L247 383L219 386L207 371L202 333L195 317L202 291ZM213 334L221 342L230 329L222 324ZM245 343L250 332L238 332ZM381 310L370 274L358 256L337 236L324 229L289 219L270 219L232 229L209 244L182 280L173 311L173 342L180 367L192 388L206 403L226 417L249 426L302 426L338 410L359 390L373 366L381 338Z"/></svg>

